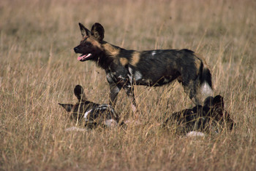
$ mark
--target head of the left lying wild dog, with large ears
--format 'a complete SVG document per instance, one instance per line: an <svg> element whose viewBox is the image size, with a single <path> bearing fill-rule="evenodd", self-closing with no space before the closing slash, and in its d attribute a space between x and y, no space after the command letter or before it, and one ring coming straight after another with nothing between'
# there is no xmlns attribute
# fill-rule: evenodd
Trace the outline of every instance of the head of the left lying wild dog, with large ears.
<svg viewBox="0 0 256 171"><path fill-rule="evenodd" d="M71 114L71 119L80 120L83 118L91 102L86 100L86 95L83 92L83 87L81 87L80 85L75 86L74 93L75 96L78 98L78 103L75 103L75 105L59 103L59 105L65 108L66 111Z"/></svg>

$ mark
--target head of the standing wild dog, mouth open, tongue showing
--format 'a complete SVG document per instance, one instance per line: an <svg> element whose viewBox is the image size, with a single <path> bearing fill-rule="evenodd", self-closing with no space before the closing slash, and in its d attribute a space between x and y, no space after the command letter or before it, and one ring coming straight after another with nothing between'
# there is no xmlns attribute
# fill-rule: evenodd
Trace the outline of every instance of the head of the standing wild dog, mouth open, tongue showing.
<svg viewBox="0 0 256 171"><path fill-rule="evenodd" d="M79 23L80 31L83 39L80 44L74 48L75 53L80 53L78 60L97 60L102 52L102 41L104 39L104 28L99 23L92 25L91 31L87 29L83 24Z"/></svg>

